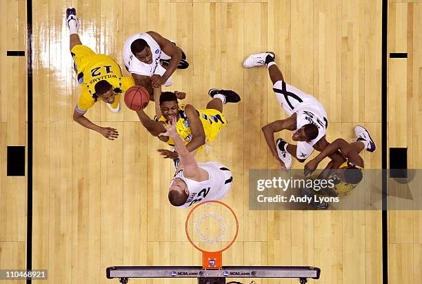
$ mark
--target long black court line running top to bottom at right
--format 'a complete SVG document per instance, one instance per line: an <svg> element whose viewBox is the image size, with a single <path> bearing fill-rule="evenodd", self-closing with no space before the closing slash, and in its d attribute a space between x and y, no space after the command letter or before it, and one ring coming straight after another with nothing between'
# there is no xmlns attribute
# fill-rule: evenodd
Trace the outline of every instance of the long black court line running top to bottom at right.
<svg viewBox="0 0 422 284"><path fill-rule="evenodd" d="M387 44L388 44L388 0L382 6L382 62L381 62L381 164L382 164L382 241L383 283L388 284L388 207L387 207Z"/></svg>

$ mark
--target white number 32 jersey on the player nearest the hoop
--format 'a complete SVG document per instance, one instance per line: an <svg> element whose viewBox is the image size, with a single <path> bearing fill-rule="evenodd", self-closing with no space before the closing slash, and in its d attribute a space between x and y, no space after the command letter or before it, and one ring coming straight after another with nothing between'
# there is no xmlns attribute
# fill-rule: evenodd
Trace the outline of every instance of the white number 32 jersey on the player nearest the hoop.
<svg viewBox="0 0 422 284"><path fill-rule="evenodd" d="M181 168L172 179L182 179L188 185L189 196L185 204L178 206L185 209L194 203L200 203L208 200L220 200L228 194L232 188L232 172L225 165L218 162L198 163L199 168L208 172L210 176L207 181L192 181L183 176Z"/></svg>

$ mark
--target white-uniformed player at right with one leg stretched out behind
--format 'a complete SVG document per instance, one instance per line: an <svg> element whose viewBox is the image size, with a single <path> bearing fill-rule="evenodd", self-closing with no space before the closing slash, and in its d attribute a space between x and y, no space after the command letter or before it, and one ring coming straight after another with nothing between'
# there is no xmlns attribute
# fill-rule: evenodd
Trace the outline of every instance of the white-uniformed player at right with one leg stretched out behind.
<svg viewBox="0 0 422 284"><path fill-rule="evenodd" d="M243 66L245 68L267 66L277 100L281 108L289 115L287 119L274 121L262 128L265 141L274 158L280 163L281 168L289 170L292 166L292 155L303 163L314 149L322 151L329 145L325 140L328 119L323 105L317 99L285 83L283 74L274 59L273 52L252 54L245 59ZM297 141L297 145L288 144L281 138L277 139L276 145L274 133L281 130L291 130L292 140ZM339 160L341 156L339 153L334 153L330 158Z"/></svg>

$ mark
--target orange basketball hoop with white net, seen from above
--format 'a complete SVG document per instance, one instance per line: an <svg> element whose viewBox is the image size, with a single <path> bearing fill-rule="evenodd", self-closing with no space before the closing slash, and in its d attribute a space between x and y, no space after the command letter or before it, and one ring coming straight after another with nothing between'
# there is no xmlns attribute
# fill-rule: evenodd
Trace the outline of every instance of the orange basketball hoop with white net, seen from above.
<svg viewBox="0 0 422 284"><path fill-rule="evenodd" d="M236 230L232 230L232 227L236 227ZM185 231L190 243L202 252L202 267L221 269L222 253L236 240L239 221L227 204L215 200L204 201L190 210ZM224 246L224 243L228 245Z"/></svg>

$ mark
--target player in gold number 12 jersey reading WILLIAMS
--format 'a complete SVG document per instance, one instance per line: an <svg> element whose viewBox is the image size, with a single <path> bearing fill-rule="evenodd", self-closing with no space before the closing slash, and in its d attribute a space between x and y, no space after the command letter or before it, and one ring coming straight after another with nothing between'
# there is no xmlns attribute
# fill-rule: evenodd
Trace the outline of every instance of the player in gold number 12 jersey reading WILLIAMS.
<svg viewBox="0 0 422 284"><path fill-rule="evenodd" d="M96 125L85 114L99 99L105 101L112 112L119 112L121 94L132 87L134 81L132 77L122 76L121 68L114 59L105 54L96 54L88 46L82 45L78 35L79 20L74 8L66 10L66 23L70 30L70 53L82 88L73 119L107 139L114 140L119 136L116 129Z"/></svg>

